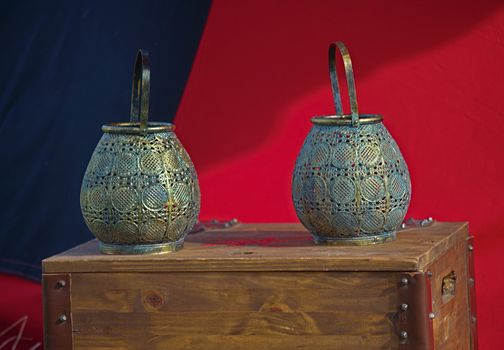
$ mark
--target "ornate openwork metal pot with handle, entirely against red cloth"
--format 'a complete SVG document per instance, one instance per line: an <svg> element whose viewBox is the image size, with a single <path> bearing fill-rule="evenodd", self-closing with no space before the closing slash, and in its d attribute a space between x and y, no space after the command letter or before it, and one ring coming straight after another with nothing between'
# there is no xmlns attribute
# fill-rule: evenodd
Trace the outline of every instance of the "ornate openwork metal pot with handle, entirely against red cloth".
<svg viewBox="0 0 504 350"><path fill-rule="evenodd" d="M351 114L343 114L336 48L345 66ZM352 63L342 42L329 47L329 71L336 115L311 119L292 180L296 213L316 243L394 240L411 198L408 167L382 117L359 114Z"/></svg>

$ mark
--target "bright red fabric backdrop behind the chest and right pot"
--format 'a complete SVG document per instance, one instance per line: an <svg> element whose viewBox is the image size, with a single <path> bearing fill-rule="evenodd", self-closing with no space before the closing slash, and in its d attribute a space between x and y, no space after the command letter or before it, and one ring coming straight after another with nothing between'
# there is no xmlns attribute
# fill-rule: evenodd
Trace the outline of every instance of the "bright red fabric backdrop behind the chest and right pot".
<svg viewBox="0 0 504 350"><path fill-rule="evenodd" d="M176 117L202 219L297 221L291 172L310 117L334 111L335 40L352 55L361 112L384 115L409 165L408 215L470 221L480 348L504 348L500 1L216 0ZM39 325L25 335L41 339L39 285L0 279Z"/></svg>

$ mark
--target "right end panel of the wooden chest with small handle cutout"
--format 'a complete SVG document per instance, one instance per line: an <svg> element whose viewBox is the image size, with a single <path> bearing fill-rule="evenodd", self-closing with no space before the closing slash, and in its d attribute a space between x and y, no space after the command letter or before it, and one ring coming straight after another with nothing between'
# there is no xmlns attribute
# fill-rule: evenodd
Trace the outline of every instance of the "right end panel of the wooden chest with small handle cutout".
<svg viewBox="0 0 504 350"><path fill-rule="evenodd" d="M452 249L429 266L432 272L432 310L435 349L471 349L467 271L467 228ZM443 298L443 278L455 273L455 295Z"/></svg>

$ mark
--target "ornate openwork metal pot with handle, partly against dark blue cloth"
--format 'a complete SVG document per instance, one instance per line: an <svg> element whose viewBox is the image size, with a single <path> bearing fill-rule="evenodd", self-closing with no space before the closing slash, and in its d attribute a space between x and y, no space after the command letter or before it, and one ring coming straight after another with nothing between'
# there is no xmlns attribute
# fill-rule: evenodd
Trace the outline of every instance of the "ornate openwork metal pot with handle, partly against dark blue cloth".
<svg viewBox="0 0 504 350"><path fill-rule="evenodd" d="M149 85L149 56L140 50L131 121L102 127L82 181L82 215L106 254L178 250L198 218L196 171L174 125L148 122Z"/></svg>

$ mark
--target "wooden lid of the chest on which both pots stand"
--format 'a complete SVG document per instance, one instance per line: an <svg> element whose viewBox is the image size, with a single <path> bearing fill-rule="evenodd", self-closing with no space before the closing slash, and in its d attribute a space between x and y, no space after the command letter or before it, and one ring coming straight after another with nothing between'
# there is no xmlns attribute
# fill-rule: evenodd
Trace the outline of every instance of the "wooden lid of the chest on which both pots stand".
<svg viewBox="0 0 504 350"><path fill-rule="evenodd" d="M188 236L164 255L103 255L96 240L42 262L45 273L170 271L421 271L466 234L467 223L436 222L391 243L315 245L300 224L240 224Z"/></svg>

